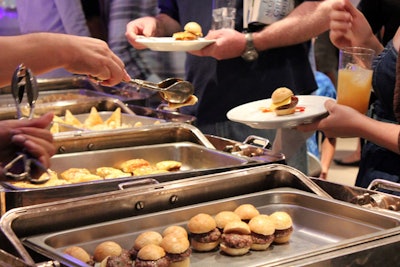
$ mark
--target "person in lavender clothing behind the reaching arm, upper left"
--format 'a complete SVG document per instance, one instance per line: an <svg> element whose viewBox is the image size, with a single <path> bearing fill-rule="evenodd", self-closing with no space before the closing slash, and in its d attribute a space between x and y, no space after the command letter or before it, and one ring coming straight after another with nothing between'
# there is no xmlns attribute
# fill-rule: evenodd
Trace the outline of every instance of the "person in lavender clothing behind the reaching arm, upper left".
<svg viewBox="0 0 400 267"><path fill-rule="evenodd" d="M91 36L81 0L16 0L21 34L35 32ZM48 72L42 78L71 76L65 69Z"/></svg>

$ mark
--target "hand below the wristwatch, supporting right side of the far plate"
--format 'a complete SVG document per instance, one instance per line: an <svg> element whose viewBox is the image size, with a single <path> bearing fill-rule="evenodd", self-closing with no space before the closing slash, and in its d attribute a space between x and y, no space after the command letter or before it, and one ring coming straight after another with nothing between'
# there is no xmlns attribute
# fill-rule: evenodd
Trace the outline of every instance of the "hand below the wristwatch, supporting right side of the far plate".
<svg viewBox="0 0 400 267"><path fill-rule="evenodd" d="M210 56L222 60L240 57L246 47L244 34L233 29L211 30L205 39L215 40L215 43L199 51L189 51L189 53L196 56Z"/></svg>

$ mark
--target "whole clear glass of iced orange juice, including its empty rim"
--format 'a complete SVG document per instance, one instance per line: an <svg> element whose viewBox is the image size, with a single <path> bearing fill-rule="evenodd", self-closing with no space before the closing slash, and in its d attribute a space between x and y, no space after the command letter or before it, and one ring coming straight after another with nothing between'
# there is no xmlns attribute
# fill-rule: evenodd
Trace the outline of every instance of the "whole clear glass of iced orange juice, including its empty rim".
<svg viewBox="0 0 400 267"><path fill-rule="evenodd" d="M367 112L374 56L374 50L363 47L347 47L339 51L338 104L352 107L361 113Z"/></svg>

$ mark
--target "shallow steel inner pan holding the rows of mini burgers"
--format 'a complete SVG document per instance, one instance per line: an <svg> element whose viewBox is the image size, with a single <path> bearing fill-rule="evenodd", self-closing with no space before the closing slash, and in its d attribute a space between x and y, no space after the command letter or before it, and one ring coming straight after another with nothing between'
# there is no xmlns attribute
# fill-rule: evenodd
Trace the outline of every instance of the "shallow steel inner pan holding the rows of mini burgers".
<svg viewBox="0 0 400 267"><path fill-rule="evenodd" d="M94 248L112 240L130 249L143 231L162 232L169 225L186 227L198 213L215 215L234 210L240 204L255 205L263 214L286 211L293 219L294 232L290 242L272 245L267 251L251 251L242 257L229 257L219 251L191 255L191 266L281 266L297 259L317 256L344 247L362 244L382 233L399 230L399 218L327 200L296 189L263 191L249 195L188 206L180 209L131 217L106 223L71 228L44 235L28 236L23 243L30 249L45 253L68 266L80 266L62 251L69 246L81 246L93 255ZM78 264L78 265L77 265ZM83 266L83 265L81 265Z"/></svg>

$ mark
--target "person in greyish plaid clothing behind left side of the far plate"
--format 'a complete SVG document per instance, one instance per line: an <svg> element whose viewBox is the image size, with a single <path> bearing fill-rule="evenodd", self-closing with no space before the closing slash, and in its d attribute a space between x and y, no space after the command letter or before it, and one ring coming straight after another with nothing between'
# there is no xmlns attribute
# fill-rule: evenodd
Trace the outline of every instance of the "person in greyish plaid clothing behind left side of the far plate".
<svg viewBox="0 0 400 267"><path fill-rule="evenodd" d="M125 37L126 25L131 20L157 14L157 0L103 0L101 6L108 44L125 63L131 77L152 82L184 77L185 53L136 50Z"/></svg>

